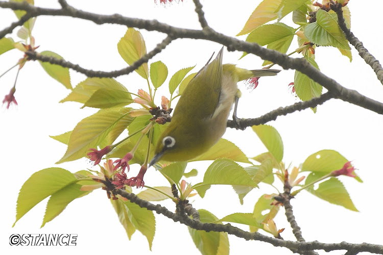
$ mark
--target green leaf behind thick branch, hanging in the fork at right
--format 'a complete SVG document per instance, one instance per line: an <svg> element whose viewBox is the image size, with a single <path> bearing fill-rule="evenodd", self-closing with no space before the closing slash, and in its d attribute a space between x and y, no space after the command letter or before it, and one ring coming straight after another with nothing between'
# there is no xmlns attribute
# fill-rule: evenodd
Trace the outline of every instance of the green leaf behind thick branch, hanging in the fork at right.
<svg viewBox="0 0 383 255"><path fill-rule="evenodd" d="M306 58L310 64L319 69L317 63L312 58ZM308 78L306 74L299 71L295 71L294 76L295 92L302 101L310 100L314 97L319 97L322 94L322 86L316 83L312 79ZM316 109L314 110L314 113Z"/></svg>

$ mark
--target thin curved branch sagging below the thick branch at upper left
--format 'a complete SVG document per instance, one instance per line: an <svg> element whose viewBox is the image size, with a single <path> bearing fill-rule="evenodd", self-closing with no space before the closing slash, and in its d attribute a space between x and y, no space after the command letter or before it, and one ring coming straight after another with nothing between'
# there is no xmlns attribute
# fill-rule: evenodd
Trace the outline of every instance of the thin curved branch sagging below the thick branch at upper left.
<svg viewBox="0 0 383 255"><path fill-rule="evenodd" d="M85 69L77 64L73 64L73 63L70 63L69 61L65 61L64 59L57 59L55 57L43 56L35 52L34 50L28 50L25 54L28 56L30 60L39 60L42 62L49 62L51 64L56 64L63 67L71 68L75 71L85 74L87 77L114 78L124 74L131 73L132 71L140 67L143 63L148 62L156 54L160 53L162 49L164 49L167 45L169 45L172 42L172 40L173 38L171 38L170 36L167 36L165 39L163 39L161 43L157 44L157 46L153 50L151 50L149 53L142 56L140 59L134 62L131 66L128 66L121 70L110 71L110 72L93 71L93 70Z"/></svg>

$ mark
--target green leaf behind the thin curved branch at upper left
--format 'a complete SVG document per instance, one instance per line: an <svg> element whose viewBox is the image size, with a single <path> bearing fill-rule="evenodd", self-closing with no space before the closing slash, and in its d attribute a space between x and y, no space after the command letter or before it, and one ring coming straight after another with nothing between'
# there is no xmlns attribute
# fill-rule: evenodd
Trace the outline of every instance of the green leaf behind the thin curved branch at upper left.
<svg viewBox="0 0 383 255"><path fill-rule="evenodd" d="M49 50L45 50L40 53L42 56L54 57L56 59L63 59L60 55L50 52ZM70 75L69 68L62 67L60 65L54 65L49 62L39 61L42 68L44 68L45 72L49 74L53 79L61 83L67 89L72 89L72 85L70 84Z"/></svg>

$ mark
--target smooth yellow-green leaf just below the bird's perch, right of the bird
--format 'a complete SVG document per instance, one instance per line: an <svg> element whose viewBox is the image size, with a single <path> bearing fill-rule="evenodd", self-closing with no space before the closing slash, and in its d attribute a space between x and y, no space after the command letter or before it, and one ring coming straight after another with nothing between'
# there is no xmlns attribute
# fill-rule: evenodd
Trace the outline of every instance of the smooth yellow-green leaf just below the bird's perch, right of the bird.
<svg viewBox="0 0 383 255"><path fill-rule="evenodd" d="M254 125L251 128L274 156L275 160L281 162L283 158L283 142L278 131L270 125Z"/></svg>

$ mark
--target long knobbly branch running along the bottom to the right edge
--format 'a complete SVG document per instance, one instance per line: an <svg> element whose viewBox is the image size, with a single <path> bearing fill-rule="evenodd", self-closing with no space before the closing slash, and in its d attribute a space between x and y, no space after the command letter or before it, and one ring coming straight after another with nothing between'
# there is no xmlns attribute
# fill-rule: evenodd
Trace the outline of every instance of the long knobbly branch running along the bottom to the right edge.
<svg viewBox="0 0 383 255"><path fill-rule="evenodd" d="M240 228L234 227L230 224L215 224L215 223L202 223L197 220L190 219L187 216L180 216L178 214L172 213L167 210L165 207L160 205L154 205L151 202L140 199L133 193L128 193L125 190L114 189L113 194L119 194L131 202L136 203L141 208L146 208L150 211L155 211L157 214L162 214L167 218L172 219L175 222L180 222L189 227L194 228L195 230L203 230L206 232L226 232L229 235L234 235L245 240L258 240L262 242L268 242L274 246L286 247L288 249L300 250L300 251L309 251L314 249L323 249L325 251L331 250L352 250L352 251L367 251L371 253L383 254L383 245L378 244L352 244L352 243L320 243L318 241L314 242L294 242L294 241L284 241L277 238L268 237L259 233L251 233L241 230Z"/></svg>

